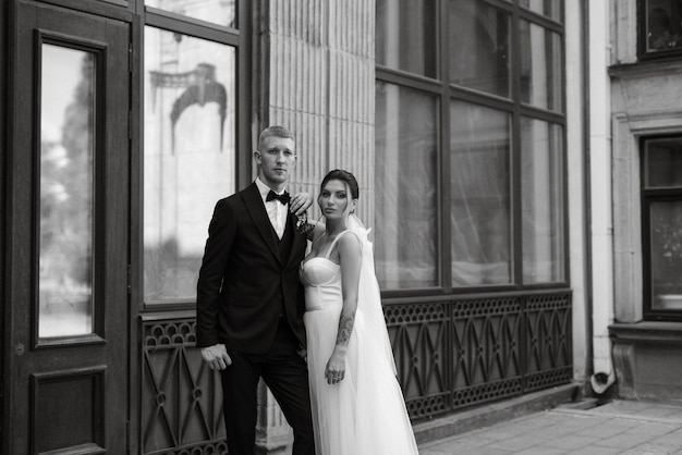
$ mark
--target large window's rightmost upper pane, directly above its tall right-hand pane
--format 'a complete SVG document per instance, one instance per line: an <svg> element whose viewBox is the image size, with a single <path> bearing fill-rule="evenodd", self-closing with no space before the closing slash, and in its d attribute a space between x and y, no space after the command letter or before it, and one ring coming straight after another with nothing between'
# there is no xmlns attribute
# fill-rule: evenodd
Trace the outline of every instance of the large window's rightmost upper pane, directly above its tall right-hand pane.
<svg viewBox="0 0 682 455"><path fill-rule="evenodd" d="M561 111L561 37L527 21L520 22L521 101Z"/></svg>

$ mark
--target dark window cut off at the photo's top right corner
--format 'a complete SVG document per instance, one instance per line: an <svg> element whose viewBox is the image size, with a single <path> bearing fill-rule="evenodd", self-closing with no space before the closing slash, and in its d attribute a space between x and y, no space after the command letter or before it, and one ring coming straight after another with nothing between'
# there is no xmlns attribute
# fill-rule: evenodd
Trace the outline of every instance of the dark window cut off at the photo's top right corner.
<svg viewBox="0 0 682 455"><path fill-rule="evenodd" d="M640 58L682 56L682 0L637 0Z"/></svg>

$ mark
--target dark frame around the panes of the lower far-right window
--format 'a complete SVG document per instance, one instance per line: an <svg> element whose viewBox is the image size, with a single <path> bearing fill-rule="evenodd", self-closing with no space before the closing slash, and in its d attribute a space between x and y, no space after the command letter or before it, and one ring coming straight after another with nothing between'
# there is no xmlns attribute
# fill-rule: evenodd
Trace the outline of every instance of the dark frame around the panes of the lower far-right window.
<svg viewBox="0 0 682 455"><path fill-rule="evenodd" d="M642 207L642 309L645 321L682 321L682 309L662 310L653 308L651 280L651 223L650 207L655 202L682 201L682 185L679 187L646 188L646 146L649 142L678 138L682 143L682 134L663 136L643 136L640 138L640 204Z"/></svg>

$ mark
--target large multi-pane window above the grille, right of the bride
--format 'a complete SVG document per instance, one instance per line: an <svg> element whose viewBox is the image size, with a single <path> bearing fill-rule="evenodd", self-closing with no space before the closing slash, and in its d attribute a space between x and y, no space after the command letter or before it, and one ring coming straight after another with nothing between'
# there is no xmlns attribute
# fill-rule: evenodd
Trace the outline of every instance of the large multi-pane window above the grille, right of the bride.
<svg viewBox="0 0 682 455"><path fill-rule="evenodd" d="M377 0L385 291L568 282L562 21L561 0Z"/></svg>

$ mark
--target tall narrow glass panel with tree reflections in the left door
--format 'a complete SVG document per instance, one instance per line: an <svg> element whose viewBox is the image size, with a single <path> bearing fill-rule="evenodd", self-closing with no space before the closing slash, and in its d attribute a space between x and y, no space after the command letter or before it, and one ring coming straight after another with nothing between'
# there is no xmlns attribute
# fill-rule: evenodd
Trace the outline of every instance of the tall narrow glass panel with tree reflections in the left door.
<svg viewBox="0 0 682 455"><path fill-rule="evenodd" d="M95 56L42 45L40 337L93 332Z"/></svg>

